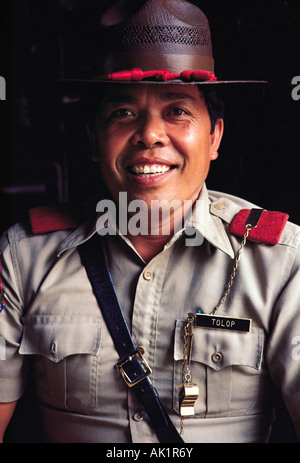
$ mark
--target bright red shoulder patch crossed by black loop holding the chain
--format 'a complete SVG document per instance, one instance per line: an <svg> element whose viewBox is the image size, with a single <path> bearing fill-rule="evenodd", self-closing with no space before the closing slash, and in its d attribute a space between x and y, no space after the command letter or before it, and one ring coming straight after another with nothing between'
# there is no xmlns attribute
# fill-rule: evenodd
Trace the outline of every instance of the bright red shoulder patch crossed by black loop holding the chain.
<svg viewBox="0 0 300 463"><path fill-rule="evenodd" d="M243 237L251 209L242 209L231 222L229 231ZM288 214L276 211L263 211L257 226L250 230L248 240L256 243L277 244L288 221Z"/></svg>

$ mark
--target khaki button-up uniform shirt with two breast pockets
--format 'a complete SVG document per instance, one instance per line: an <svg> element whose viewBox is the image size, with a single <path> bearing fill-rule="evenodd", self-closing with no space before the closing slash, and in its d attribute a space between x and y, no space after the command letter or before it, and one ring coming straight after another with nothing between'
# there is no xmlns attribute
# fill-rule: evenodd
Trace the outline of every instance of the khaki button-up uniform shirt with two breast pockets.
<svg viewBox="0 0 300 463"><path fill-rule="evenodd" d="M178 430L184 320L221 299L242 241L228 226L251 207L204 186L188 223L202 244L187 246L178 233L149 263L126 237L99 237L133 339ZM155 443L114 366L118 355L76 249L94 233L95 224L83 223L33 235L25 224L2 237L0 402L22 396L32 361L49 442ZM300 421L299 241L299 227L288 223L276 246L247 242L218 313L251 318L250 333L195 328L191 373L200 394L184 421L185 442L266 441L278 390Z"/></svg>

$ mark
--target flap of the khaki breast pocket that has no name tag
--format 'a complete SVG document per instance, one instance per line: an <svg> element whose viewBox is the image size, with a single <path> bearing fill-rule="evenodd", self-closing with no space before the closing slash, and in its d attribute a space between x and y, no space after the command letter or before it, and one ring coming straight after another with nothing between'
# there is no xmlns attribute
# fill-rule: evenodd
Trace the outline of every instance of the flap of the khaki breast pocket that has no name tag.
<svg viewBox="0 0 300 463"><path fill-rule="evenodd" d="M43 355L52 362L74 354L97 355L100 319L84 316L28 316L19 349L23 355Z"/></svg>

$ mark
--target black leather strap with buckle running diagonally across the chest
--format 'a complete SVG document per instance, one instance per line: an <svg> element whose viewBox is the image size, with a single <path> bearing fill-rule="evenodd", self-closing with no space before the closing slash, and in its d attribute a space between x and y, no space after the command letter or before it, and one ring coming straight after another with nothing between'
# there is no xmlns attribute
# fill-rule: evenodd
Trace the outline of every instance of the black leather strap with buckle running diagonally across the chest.
<svg viewBox="0 0 300 463"><path fill-rule="evenodd" d="M136 348L120 307L97 234L80 245L78 252L98 305L120 356L117 366L125 383L136 393L161 443L184 443L165 412L148 375L151 369Z"/></svg>

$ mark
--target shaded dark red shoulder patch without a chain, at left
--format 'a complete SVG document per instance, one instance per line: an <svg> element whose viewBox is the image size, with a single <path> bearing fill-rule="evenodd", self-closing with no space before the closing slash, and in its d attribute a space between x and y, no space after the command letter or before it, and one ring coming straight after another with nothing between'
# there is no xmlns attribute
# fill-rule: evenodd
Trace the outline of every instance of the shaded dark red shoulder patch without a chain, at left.
<svg viewBox="0 0 300 463"><path fill-rule="evenodd" d="M34 234L68 230L80 224L78 216L68 204L30 209L29 218Z"/></svg>

